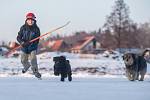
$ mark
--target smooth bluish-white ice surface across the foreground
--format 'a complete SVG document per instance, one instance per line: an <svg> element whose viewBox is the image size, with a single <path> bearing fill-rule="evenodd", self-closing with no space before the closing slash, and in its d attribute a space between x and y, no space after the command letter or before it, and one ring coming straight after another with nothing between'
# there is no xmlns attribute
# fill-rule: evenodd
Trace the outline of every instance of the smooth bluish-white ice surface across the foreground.
<svg viewBox="0 0 150 100"><path fill-rule="evenodd" d="M0 78L0 100L150 100L150 79L126 78Z"/></svg>

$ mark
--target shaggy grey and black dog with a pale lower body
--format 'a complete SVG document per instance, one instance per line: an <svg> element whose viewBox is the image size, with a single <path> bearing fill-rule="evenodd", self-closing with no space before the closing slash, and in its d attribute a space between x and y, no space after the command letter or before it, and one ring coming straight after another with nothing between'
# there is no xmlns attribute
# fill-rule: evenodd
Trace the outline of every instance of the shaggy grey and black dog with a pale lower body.
<svg viewBox="0 0 150 100"><path fill-rule="evenodd" d="M130 81L143 81L147 71L145 52L142 55L126 53L123 55L123 60L126 66L126 76L128 79Z"/></svg>

